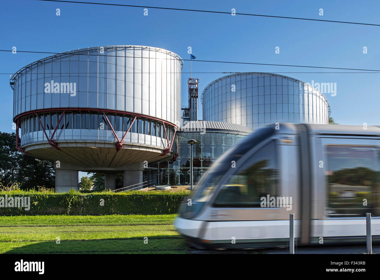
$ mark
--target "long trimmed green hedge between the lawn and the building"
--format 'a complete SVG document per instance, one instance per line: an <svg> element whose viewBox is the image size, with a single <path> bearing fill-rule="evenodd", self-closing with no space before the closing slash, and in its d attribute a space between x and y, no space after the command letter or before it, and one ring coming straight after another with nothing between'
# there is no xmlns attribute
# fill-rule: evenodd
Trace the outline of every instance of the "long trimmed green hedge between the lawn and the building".
<svg viewBox="0 0 380 280"><path fill-rule="evenodd" d="M173 214L185 194L7 194L30 197L30 210L0 207L0 215ZM5 193L0 193L5 198ZM103 199L103 200L101 200ZM104 206L101 205L104 202Z"/></svg>

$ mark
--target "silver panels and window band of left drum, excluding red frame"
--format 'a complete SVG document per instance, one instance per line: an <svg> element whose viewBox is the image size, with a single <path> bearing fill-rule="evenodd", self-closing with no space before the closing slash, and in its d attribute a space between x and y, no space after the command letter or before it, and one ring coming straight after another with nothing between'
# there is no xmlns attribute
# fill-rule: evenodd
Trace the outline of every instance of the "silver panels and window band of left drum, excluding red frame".
<svg viewBox="0 0 380 280"><path fill-rule="evenodd" d="M54 140L115 141L102 113L77 112L75 108L132 112L178 124L182 67L182 59L173 52L146 46L80 49L27 65L12 78L14 116L30 111L20 119L21 145L46 141L35 116L35 110L40 109L52 109L39 115L49 136L62 113L59 108L73 108L64 115ZM118 137L123 137L130 118L109 114ZM101 123L104 129L100 129ZM155 121L141 117L134 126L125 142L167 146L165 134L157 135L163 130ZM169 135L172 130L168 128Z"/></svg>

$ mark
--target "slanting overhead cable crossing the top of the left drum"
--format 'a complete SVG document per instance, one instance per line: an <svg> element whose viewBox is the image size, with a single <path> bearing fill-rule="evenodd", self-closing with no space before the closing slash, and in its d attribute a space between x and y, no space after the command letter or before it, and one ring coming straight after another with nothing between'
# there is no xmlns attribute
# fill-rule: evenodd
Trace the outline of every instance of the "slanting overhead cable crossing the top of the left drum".
<svg viewBox="0 0 380 280"><path fill-rule="evenodd" d="M4 50L0 49L0 51L5 52L12 52L12 50ZM40 51L17 51L17 52L33 52L33 53L45 53L45 54L55 54L60 55L62 53L58 52L40 52ZM65 52L63 54L70 54L70 52ZM73 53L73 55L84 55L84 56L98 56L98 54L78 54ZM108 57L125 57L125 56L109 56ZM105 55L106 57L106 55ZM46 57L45 57L46 58ZM137 58L137 57L135 57ZM140 57L138 57L140 58ZM141 58L147 58L149 57L141 57ZM156 58L161 59L161 58ZM165 58L163 58L165 59ZM182 59L184 61L190 61L190 59ZM247 64L247 65L270 65L270 66L286 66L286 67L306 67L306 68L323 68L323 69L337 69L337 70L356 70L356 71L372 71L372 72L380 72L380 70L371 70L371 69L360 69L360 68L342 68L342 67L325 67L325 66L307 66L307 65L288 65L288 64L268 64L268 63L254 63L254 62L237 62L237 61L218 61L218 60L194 60L193 62L214 62L214 63L230 63L230 64ZM284 72L285 73L285 72Z"/></svg>

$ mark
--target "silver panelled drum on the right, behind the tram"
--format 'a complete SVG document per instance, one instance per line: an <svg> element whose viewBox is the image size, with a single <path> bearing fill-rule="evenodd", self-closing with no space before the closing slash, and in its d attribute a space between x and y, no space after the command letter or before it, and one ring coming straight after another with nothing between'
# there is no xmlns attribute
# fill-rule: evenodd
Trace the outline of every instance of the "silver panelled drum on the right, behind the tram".
<svg viewBox="0 0 380 280"><path fill-rule="evenodd" d="M328 124L330 105L314 87L271 73L238 73L203 90L203 120L256 129L274 122Z"/></svg>

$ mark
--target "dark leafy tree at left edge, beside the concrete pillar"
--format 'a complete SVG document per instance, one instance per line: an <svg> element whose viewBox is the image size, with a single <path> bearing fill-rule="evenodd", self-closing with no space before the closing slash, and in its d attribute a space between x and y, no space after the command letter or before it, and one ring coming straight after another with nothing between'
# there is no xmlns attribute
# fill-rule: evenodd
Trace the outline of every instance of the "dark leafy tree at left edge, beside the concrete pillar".
<svg viewBox="0 0 380 280"><path fill-rule="evenodd" d="M21 189L54 188L55 172L52 162L17 151L14 132L0 132L0 181L5 186L20 183Z"/></svg>

